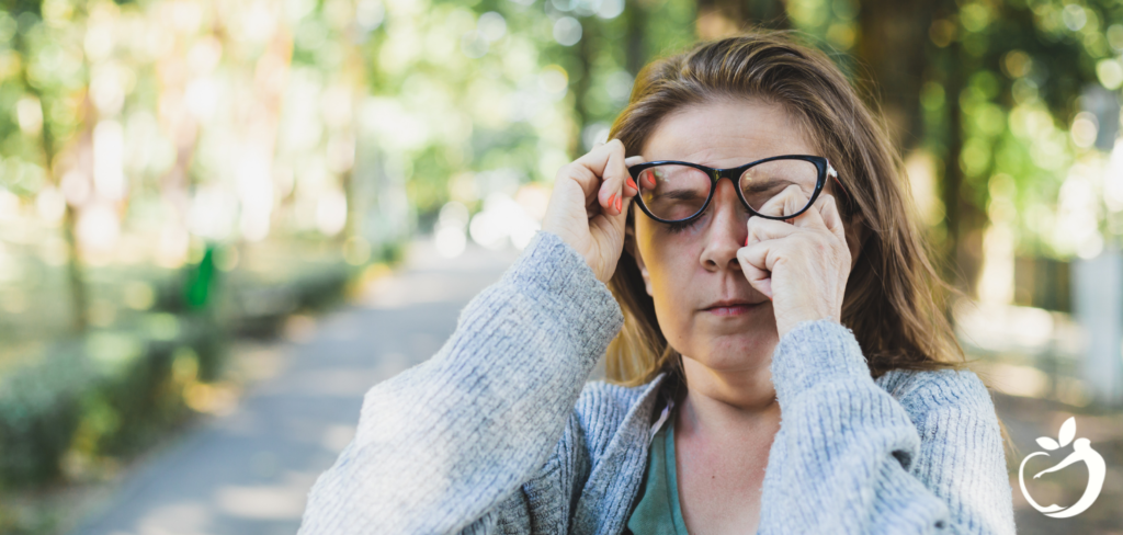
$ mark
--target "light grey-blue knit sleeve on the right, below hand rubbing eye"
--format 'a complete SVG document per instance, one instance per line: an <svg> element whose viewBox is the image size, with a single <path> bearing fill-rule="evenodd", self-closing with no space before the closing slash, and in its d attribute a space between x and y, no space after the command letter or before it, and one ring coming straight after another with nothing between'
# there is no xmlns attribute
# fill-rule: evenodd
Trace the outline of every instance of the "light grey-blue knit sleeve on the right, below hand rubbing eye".
<svg viewBox="0 0 1123 535"><path fill-rule="evenodd" d="M1014 533L997 416L973 372L917 372L897 400L853 333L820 320L780 340L772 373L782 419L758 533Z"/></svg>

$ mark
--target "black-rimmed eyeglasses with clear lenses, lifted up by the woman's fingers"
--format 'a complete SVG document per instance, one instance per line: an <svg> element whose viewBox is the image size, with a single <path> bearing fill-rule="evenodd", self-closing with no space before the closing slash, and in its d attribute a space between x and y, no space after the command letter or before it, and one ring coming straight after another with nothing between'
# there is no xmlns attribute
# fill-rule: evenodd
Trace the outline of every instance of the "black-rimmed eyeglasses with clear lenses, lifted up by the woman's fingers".
<svg viewBox="0 0 1123 535"><path fill-rule="evenodd" d="M682 223L701 215L722 178L733 182L737 196L750 213L773 220L792 219L807 211L822 193L827 177L838 181L838 172L827 158L805 155L773 156L729 169L690 162L646 162L628 172L639 186L636 200L640 210L664 223ZM769 201L792 185L803 191L807 204L784 213L783 202Z"/></svg>

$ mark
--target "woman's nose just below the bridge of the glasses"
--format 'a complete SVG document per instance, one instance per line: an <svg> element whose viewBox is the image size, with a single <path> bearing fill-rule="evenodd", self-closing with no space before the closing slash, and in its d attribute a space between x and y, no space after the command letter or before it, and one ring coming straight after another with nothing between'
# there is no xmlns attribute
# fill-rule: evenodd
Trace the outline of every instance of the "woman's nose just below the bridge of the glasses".
<svg viewBox="0 0 1123 535"><path fill-rule="evenodd" d="M699 260L711 271L724 268L740 270L737 250L745 246L748 236L745 224L748 212L741 205L732 181L718 181L718 191L713 193L706 211L710 212L710 224L706 225Z"/></svg>

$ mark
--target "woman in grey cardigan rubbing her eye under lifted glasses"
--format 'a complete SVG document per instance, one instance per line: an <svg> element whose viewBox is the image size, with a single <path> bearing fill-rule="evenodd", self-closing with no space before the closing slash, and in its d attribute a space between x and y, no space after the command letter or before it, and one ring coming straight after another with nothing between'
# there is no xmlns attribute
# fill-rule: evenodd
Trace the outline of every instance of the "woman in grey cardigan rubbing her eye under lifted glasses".
<svg viewBox="0 0 1123 535"><path fill-rule="evenodd" d="M371 389L302 534L1014 532L900 162L829 59L700 45L611 136L437 356Z"/></svg>

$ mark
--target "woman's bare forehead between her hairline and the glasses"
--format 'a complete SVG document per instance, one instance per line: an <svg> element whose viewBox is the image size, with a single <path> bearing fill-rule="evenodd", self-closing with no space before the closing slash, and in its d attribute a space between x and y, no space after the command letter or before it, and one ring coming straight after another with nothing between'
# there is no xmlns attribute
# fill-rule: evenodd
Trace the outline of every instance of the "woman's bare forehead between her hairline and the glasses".
<svg viewBox="0 0 1123 535"><path fill-rule="evenodd" d="M722 99L668 113L640 154L648 162L678 159L732 167L769 156L818 155L815 146L804 121L783 105L759 99Z"/></svg>

